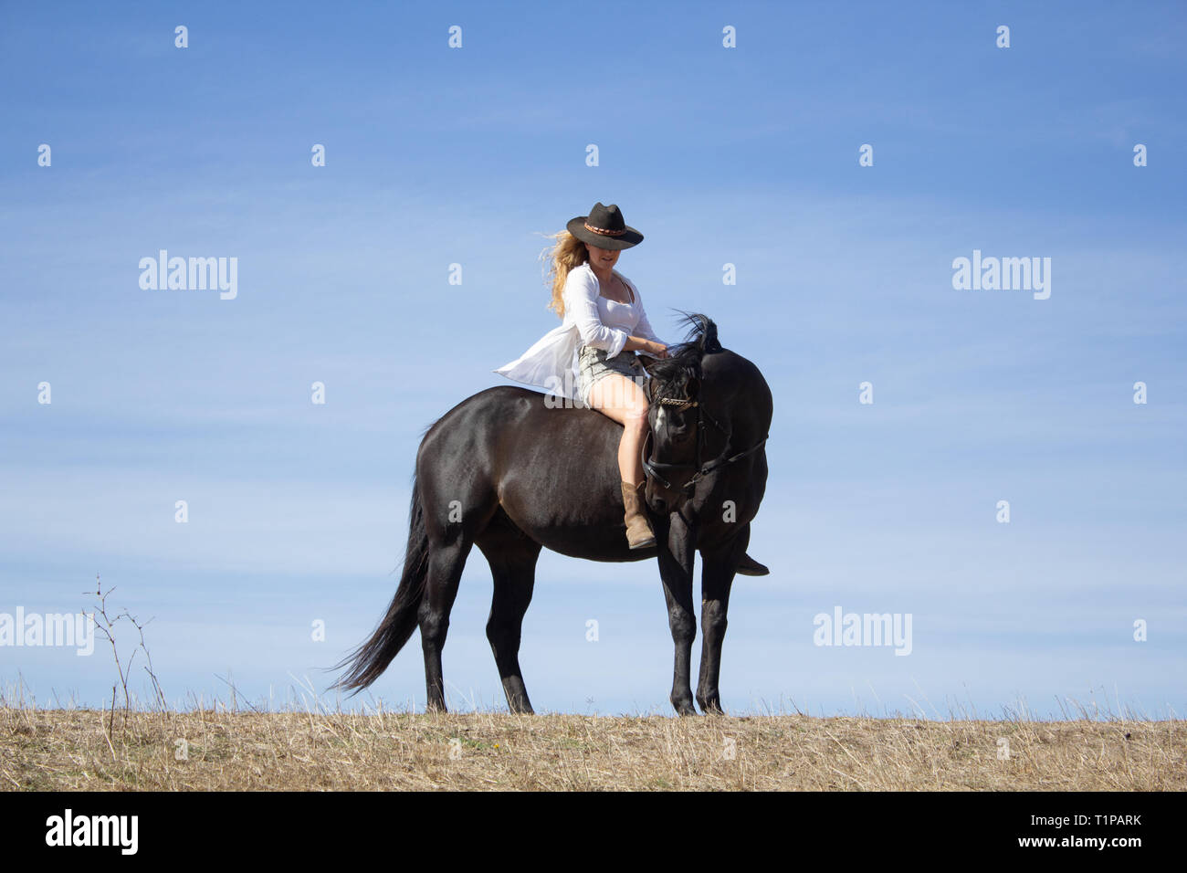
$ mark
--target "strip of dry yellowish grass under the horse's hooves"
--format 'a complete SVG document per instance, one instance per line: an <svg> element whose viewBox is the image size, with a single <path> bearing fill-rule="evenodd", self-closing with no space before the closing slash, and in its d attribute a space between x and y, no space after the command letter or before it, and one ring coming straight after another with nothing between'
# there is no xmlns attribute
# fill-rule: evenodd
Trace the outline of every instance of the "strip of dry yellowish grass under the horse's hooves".
<svg viewBox="0 0 1187 873"><path fill-rule="evenodd" d="M222 707L125 715L4 706L0 787L1182 791L1185 739L1178 721L1123 719L358 715Z"/></svg>

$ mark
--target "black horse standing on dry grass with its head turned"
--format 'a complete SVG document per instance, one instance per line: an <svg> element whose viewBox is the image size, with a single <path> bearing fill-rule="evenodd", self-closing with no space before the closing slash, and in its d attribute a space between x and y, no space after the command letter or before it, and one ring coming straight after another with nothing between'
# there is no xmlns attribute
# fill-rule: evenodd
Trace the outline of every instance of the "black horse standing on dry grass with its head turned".
<svg viewBox="0 0 1187 873"><path fill-rule="evenodd" d="M693 557L702 556L697 703L721 711L717 688L730 586L767 483L772 398L750 361L688 315L685 342L648 367L650 436L643 445L656 546L631 551L623 533L617 447L622 425L585 407L546 403L515 386L481 391L429 428L417 453L408 545L395 596L370 639L335 669L358 690L420 628L429 708L445 709L442 647L466 556L475 544L495 590L487 638L507 706L531 713L520 673L520 631L541 546L591 561L659 557L675 643L672 706L694 715L690 682L697 633ZM648 457L648 450L650 456Z"/></svg>

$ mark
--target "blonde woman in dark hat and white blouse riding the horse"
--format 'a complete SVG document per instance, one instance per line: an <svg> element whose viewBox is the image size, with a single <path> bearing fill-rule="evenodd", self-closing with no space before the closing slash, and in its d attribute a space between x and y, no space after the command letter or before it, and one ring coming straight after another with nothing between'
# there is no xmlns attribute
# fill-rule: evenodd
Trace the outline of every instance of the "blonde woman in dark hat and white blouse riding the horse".
<svg viewBox="0 0 1187 873"><path fill-rule="evenodd" d="M626 223L614 203L595 203L589 215L578 215L566 227L553 235L548 268L550 309L561 324L495 372L580 400L622 425L618 474L627 543L646 549L655 545L655 534L643 511L648 401L642 386L648 377L639 355L666 358L667 343L652 330L639 289L614 268L622 251L637 246L643 235ZM767 568L747 556L738 572L763 575Z"/></svg>

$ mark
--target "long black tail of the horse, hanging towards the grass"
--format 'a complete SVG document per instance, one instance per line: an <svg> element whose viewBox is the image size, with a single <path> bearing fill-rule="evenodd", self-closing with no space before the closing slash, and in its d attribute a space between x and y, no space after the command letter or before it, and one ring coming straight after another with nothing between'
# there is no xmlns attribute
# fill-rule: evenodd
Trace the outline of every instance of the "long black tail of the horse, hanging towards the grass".
<svg viewBox="0 0 1187 873"><path fill-rule="evenodd" d="M349 665L350 671L335 683L335 688L358 691L380 677L392 659L417 630L417 612L425 596L429 575L429 533L425 531L425 511L420 501L420 481L412 480L412 501L408 510L408 548L404 553L404 574L395 589L387 615L379 622L369 640L363 643L335 669Z"/></svg>

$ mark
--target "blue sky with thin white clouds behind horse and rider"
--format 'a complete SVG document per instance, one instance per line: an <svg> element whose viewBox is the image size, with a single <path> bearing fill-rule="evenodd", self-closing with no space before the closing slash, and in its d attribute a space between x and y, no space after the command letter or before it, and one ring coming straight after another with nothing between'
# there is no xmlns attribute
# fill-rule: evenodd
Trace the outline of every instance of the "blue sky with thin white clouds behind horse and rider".
<svg viewBox="0 0 1187 873"><path fill-rule="evenodd" d="M394 589L419 435L557 323L540 234L603 201L659 334L707 312L775 399L728 709L1181 715L1185 37L1180 4L7 4L0 613L101 574L171 701L324 689ZM237 297L141 290L161 248L237 258ZM1049 299L954 290L973 249L1050 258ZM475 551L457 708L504 703L490 588ZM909 613L910 656L815 646L836 606ZM538 710L667 714L671 658L653 564L541 557ZM0 646L46 706L112 671ZM414 639L372 695L424 694Z"/></svg>

